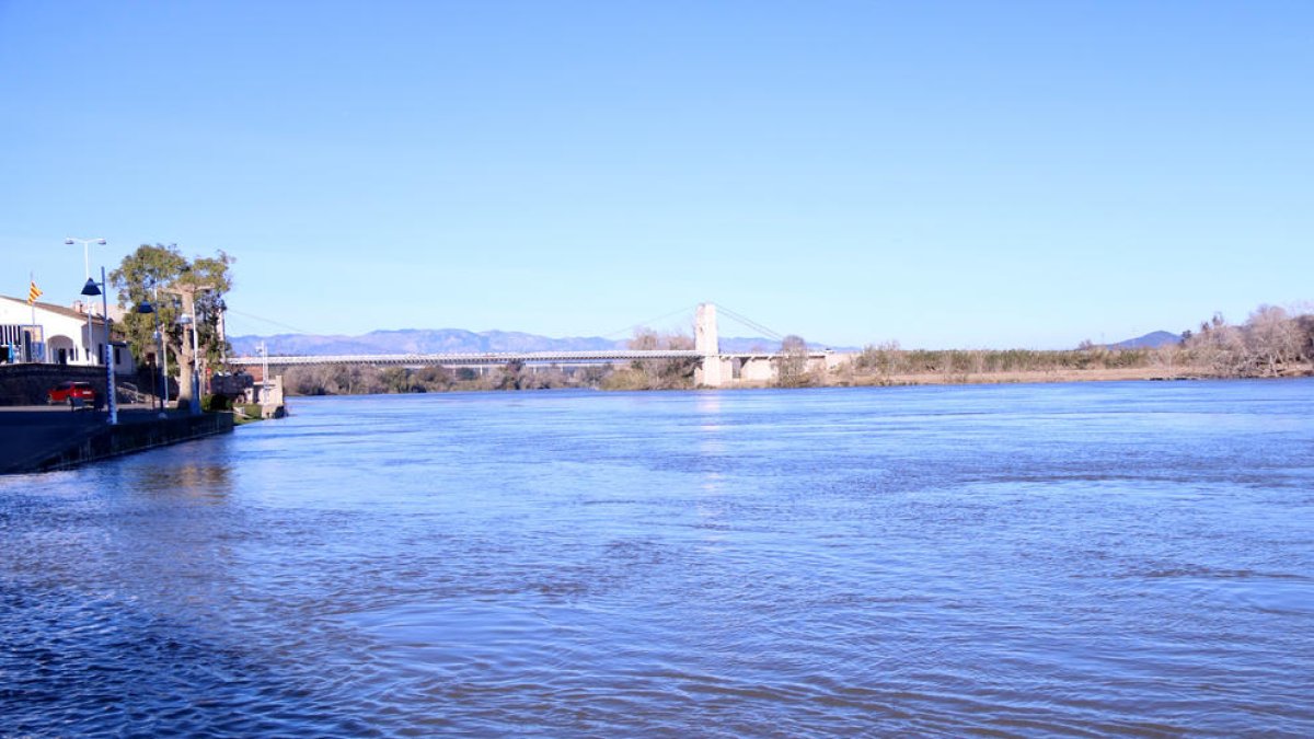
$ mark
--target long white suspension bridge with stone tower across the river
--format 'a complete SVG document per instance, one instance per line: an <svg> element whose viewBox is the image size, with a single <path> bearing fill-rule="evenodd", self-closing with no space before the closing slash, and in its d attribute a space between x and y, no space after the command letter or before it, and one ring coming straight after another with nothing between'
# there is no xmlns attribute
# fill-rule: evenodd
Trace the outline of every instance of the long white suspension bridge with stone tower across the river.
<svg viewBox="0 0 1314 739"><path fill-rule="evenodd" d="M784 337L771 329L728 309L721 312L767 337ZM749 351L723 352L720 350L717 306L700 304L694 313L694 348L614 348L597 351L530 351L530 352L455 352L455 354L356 354L356 355L283 355L237 356L229 364L235 367L305 367L323 364L369 364L390 367L490 367L511 363L523 364L599 364L610 362L636 362L645 359L690 359L698 367L694 380L699 385L716 388L736 381L770 381L777 376L779 352ZM829 368L836 355L829 351L808 351L809 368Z"/></svg>

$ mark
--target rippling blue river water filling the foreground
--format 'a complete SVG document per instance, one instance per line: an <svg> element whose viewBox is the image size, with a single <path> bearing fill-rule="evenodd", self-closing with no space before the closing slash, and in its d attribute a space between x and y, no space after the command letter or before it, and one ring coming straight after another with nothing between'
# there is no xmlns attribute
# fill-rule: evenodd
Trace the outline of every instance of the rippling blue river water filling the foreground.
<svg viewBox="0 0 1314 739"><path fill-rule="evenodd" d="M1314 383L296 400L0 479L0 735L1314 734Z"/></svg>

